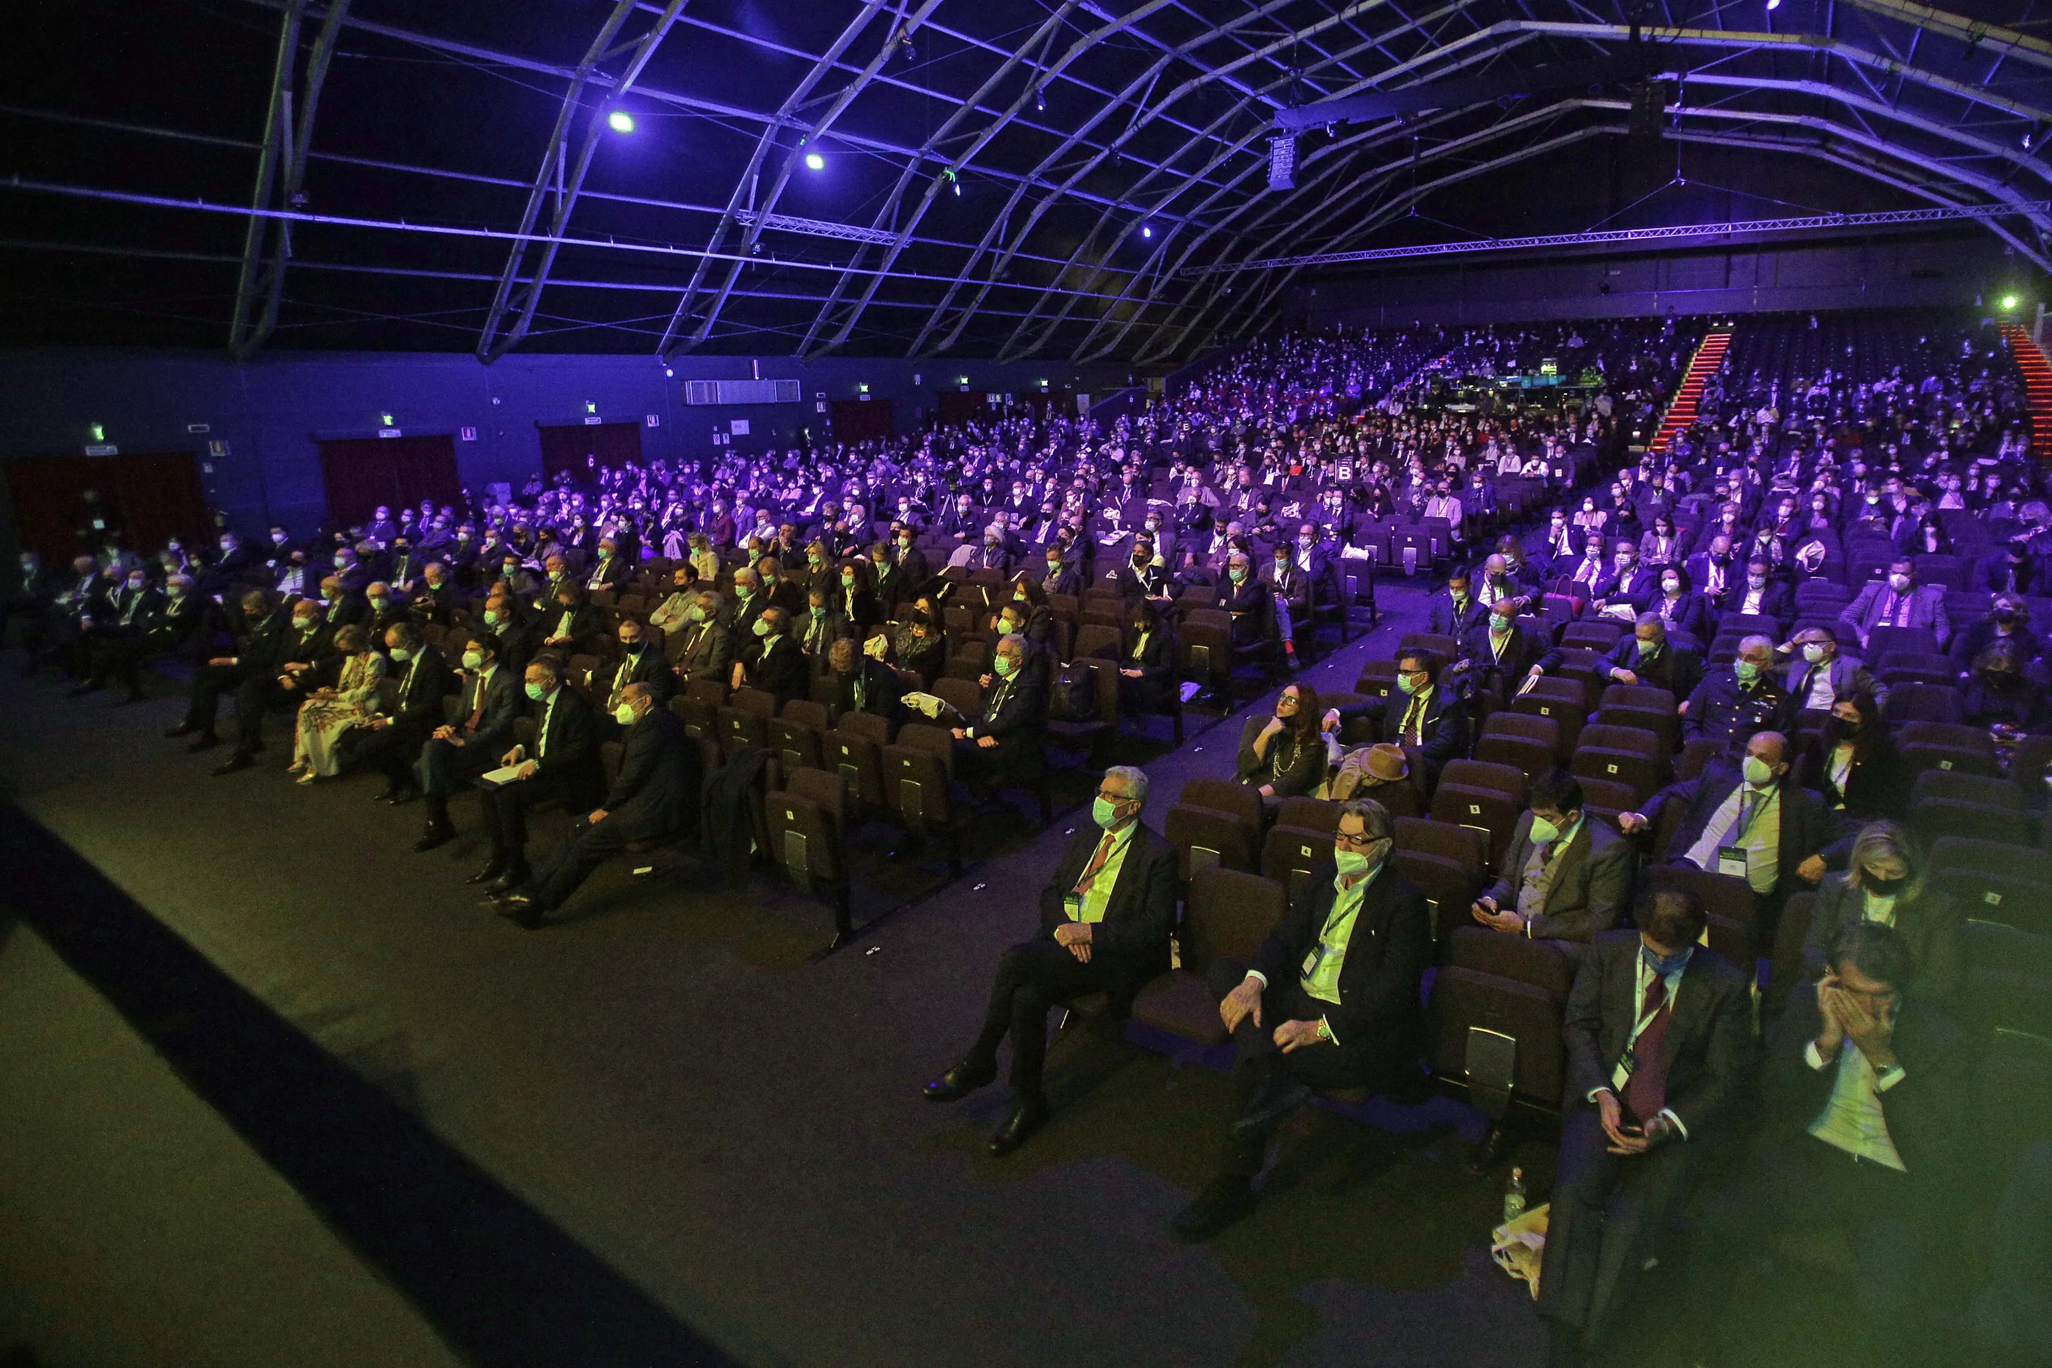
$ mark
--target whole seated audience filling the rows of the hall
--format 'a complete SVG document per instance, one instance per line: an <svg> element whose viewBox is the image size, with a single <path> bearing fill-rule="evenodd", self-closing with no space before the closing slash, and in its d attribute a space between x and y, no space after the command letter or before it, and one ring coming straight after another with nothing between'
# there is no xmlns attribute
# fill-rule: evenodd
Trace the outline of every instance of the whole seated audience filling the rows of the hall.
<svg viewBox="0 0 2052 1368"><path fill-rule="evenodd" d="M1174 1222L1209 1239L1254 1208L1293 1109L1418 1101L1430 1070L1490 1117L1479 1165L1512 1101L1562 1122L1537 1300L1555 1362L1605 1347L1713 1179L1703 1304L1777 1232L1849 1224L1861 1306L1917 1362L1927 1282L1970 1239L1976 953L2025 947L2005 1002L2052 1002L2031 978L2052 516L2017 394L1972 335L1902 343L1882 376L1781 374L1832 353L1775 325L1796 343L1736 349L1754 359L1691 427L1627 456L1693 341L1582 327L1293 333L1108 425L1016 411L593 468L304 542L222 530L144 561L96 528L64 575L23 557L0 635L21 622L27 668L78 694L189 663L170 735L220 746L226 696L218 774L289 711L300 783L382 774L382 799L423 803L419 850L476 789L474 881L542 924L605 857L696 828L720 705L866 715L884 739L932 719L954 778L1016 789L1051 727L1090 721L1075 690L1100 670L1106 707L1180 727L1190 684L1301 666L1324 622L1344 641L1350 575L1451 567L1354 690L1285 674L1233 774L1186 785L1159 832L1147 774L1104 770L1038 935L925 1095L993 1082L1010 1039L1010 1154L1051 1119L1053 1009L1231 1043L1215 1179ZM1541 357L1609 382L1580 409L1432 398L1434 376ZM529 861L542 801L577 822ZM1970 896L2023 941L1980 935ZM1541 1064L1498 1076L1469 1027L1523 1031ZM1718 1352L1744 1362L1742 1339Z"/></svg>

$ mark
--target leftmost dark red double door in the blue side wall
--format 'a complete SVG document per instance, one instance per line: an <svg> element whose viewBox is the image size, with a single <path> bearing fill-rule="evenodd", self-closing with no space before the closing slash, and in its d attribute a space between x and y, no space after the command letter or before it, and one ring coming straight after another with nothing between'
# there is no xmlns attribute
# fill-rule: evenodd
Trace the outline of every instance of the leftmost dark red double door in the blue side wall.
<svg viewBox="0 0 2052 1368"><path fill-rule="evenodd" d="M162 550L174 536L207 534L207 497L191 452L142 456L53 456L6 462L8 495L21 544L62 565L82 550L98 550L84 505L88 489L101 495L101 520L121 532L129 550Z"/></svg>

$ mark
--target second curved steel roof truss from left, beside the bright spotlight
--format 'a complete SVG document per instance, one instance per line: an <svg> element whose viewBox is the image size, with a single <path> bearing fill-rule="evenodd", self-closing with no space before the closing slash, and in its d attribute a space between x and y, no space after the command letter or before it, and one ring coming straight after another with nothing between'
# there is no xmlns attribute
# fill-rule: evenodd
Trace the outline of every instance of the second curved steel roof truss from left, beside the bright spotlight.
<svg viewBox="0 0 2052 1368"><path fill-rule="evenodd" d="M585 101L585 86L591 82L593 74L603 62L628 53L626 68L614 78L614 99L624 94L640 80L642 70L655 55L655 49L669 35L671 25L677 23L677 14L683 10L685 0L669 0L663 10L657 12L655 23L638 37L614 47L614 39L620 29L626 27L628 14L640 8L638 0L618 0L614 12L607 14L605 25L599 27L599 35L591 39L591 47L585 49L585 60L577 66L577 76L570 78L570 88L562 97L562 109L556 113L556 127L548 138L548 150L542 154L542 170L536 173L534 185L527 191L527 207L521 214L521 232L534 232L536 220L542 216L542 205L554 199L548 220L548 236L560 238L570 226L570 214L577 212L577 197L585 191L585 177L591 175L591 158L599 150L599 138L605 136L605 105L599 103L591 109L585 121L585 140L577 152L577 166L570 168L570 123L577 119L579 109ZM534 310L542 304L542 290L548 288L548 273L556 265L556 242L540 242L540 257L531 269L525 269L525 259L529 244L519 242L507 253L507 265L499 273L499 288L492 292L492 304L484 312L484 327L478 331L478 359L497 362L509 349L517 347L527 329L534 327ZM521 286L521 275L527 275L525 286ZM515 290L519 290L519 302L515 304ZM507 327L507 314L517 310L517 318Z"/></svg>

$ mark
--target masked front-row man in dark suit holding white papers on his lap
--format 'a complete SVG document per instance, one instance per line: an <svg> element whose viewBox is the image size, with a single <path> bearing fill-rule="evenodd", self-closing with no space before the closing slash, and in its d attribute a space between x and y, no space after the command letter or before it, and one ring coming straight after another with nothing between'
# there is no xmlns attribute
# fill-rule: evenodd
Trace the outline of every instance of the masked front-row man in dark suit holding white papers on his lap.
<svg viewBox="0 0 2052 1368"><path fill-rule="evenodd" d="M568 811L589 811L605 795L597 713L583 694L562 686L562 668L552 655L527 666L525 692L534 742L499 756L501 766L513 766L511 778L478 785L492 850L470 883L484 883L492 894L527 883L529 807L560 801Z"/></svg>

